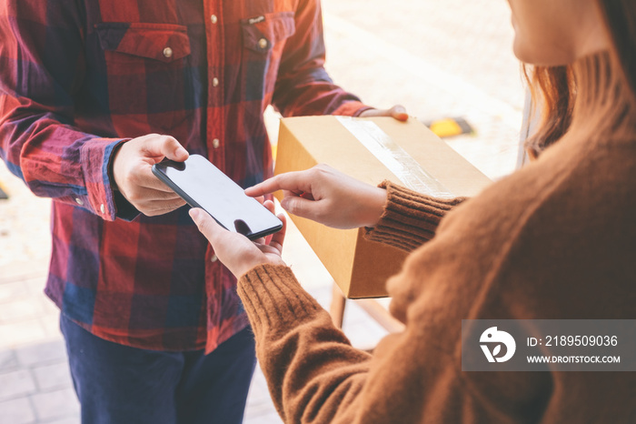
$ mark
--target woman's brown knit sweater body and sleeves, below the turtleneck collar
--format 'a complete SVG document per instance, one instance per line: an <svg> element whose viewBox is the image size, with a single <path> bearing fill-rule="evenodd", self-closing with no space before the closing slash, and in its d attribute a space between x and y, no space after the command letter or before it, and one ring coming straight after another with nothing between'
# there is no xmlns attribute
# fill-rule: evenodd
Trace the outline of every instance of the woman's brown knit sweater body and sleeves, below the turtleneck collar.
<svg viewBox="0 0 636 424"><path fill-rule="evenodd" d="M369 237L423 243L443 215L426 212L436 201L387 190ZM405 330L373 356L351 347L289 268L254 268L238 289L285 422L633 423L636 373L463 372L461 322L633 319L635 284L636 141L563 139L456 207L412 252L388 282Z"/></svg>

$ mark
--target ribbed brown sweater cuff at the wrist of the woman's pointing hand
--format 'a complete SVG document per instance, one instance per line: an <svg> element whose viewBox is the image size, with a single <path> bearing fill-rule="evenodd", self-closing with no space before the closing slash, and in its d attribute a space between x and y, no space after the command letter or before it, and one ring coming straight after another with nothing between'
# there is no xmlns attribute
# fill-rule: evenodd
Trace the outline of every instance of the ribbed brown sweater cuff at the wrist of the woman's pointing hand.
<svg viewBox="0 0 636 424"><path fill-rule="evenodd" d="M430 240L442 217L466 197L436 198L383 181L387 202L378 224L367 230L367 239L411 251Z"/></svg>

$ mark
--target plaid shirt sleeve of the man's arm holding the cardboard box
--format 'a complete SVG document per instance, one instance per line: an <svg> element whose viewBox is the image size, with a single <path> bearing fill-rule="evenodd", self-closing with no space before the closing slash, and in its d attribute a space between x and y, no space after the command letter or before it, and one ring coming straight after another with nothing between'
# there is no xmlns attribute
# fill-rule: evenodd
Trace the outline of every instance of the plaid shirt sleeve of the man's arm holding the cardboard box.
<svg viewBox="0 0 636 424"><path fill-rule="evenodd" d="M273 106L283 116L358 116L371 109L334 85L324 69L323 16L318 0L299 2L295 27L284 45Z"/></svg>

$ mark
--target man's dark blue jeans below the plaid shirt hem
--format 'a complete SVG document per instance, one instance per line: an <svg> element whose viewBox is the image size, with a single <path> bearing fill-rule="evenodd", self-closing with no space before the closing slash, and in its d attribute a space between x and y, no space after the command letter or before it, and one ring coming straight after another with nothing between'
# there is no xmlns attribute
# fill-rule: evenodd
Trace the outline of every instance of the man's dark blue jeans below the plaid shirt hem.
<svg viewBox="0 0 636 424"><path fill-rule="evenodd" d="M98 338L61 315L84 424L240 423L256 359L250 328L209 355Z"/></svg>

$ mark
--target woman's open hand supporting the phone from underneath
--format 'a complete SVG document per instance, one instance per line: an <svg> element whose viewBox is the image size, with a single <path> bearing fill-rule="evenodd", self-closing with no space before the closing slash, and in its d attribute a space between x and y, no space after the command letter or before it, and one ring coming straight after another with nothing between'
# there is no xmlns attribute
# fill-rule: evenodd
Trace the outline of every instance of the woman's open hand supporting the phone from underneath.
<svg viewBox="0 0 636 424"><path fill-rule="evenodd" d="M273 202L266 200L264 206L273 213ZM199 231L208 239L214 254L223 262L236 278L240 278L250 269L262 265L285 265L281 258L286 222L283 214L278 215L283 221L283 229L272 236L269 243L265 237L250 241L241 234L226 230L214 221L203 209L190 209L190 217L199 227Z"/></svg>

